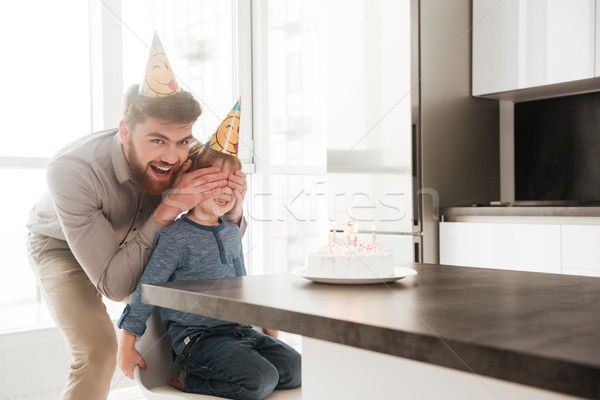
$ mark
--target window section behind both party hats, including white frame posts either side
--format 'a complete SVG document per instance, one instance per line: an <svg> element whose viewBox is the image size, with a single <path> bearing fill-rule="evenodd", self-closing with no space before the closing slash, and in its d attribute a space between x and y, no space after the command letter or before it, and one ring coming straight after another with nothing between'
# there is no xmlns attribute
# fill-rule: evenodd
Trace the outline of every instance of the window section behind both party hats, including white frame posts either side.
<svg viewBox="0 0 600 400"><path fill-rule="evenodd" d="M200 101L203 113L194 125L199 140L212 135L242 97L240 157L251 170L252 98L249 47L250 13L245 1L120 0L94 2L102 18L92 24L97 46L92 53L94 129L115 126L120 117L120 94L141 82L156 31L179 85ZM109 96L108 93L112 93ZM105 104L103 104L105 103Z"/></svg>

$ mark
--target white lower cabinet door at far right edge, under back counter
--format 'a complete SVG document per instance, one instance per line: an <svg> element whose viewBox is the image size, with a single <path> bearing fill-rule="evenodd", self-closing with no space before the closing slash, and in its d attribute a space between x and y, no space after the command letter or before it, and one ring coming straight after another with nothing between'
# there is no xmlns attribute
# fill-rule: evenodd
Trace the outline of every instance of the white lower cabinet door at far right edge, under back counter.
<svg viewBox="0 0 600 400"><path fill-rule="evenodd" d="M600 277L600 226L562 227L562 271Z"/></svg>

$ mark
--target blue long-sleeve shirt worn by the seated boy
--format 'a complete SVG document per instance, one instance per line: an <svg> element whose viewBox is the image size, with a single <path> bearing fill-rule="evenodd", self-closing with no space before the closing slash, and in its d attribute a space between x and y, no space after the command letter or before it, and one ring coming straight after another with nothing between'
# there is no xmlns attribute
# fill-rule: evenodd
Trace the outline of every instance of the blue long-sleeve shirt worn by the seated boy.
<svg viewBox="0 0 600 400"><path fill-rule="evenodd" d="M187 217L179 218L159 231L142 280L123 311L118 326L136 336L144 334L154 306L142 303L142 284L242 275L246 275L242 236L236 225L220 221L218 226L205 226ZM160 316L177 354L183 351L186 337L194 337L207 328L237 325L168 308L161 308Z"/></svg>

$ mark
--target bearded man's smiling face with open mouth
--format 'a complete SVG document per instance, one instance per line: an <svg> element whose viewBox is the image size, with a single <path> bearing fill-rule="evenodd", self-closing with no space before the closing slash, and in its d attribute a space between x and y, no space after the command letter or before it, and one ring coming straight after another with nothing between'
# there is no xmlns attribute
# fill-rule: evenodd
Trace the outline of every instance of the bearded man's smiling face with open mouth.
<svg viewBox="0 0 600 400"><path fill-rule="evenodd" d="M121 143L136 181L151 194L171 187L187 160L192 125L147 118L129 130L119 124Z"/></svg>

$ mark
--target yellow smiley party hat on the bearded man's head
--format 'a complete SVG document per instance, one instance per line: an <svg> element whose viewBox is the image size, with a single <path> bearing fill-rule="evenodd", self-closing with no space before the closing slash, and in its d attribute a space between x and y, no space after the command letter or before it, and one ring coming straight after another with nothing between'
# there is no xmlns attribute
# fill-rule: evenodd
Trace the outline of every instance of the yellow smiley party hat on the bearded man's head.
<svg viewBox="0 0 600 400"><path fill-rule="evenodd" d="M146 73L140 85L140 95L163 97L175 94L179 90L171 64L155 31L150 56L148 56L148 63L146 64Z"/></svg>

